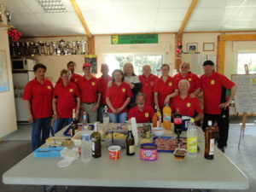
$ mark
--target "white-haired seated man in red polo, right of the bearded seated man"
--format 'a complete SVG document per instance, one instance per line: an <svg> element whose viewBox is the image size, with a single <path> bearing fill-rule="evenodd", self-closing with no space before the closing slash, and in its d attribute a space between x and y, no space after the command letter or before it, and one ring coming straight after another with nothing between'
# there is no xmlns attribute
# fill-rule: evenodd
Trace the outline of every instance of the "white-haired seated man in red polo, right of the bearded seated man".
<svg viewBox="0 0 256 192"><path fill-rule="evenodd" d="M179 94L172 99L172 113L175 113L176 109L179 108L179 111L183 116L195 117L195 121L198 121L202 119L203 113L198 99L196 97L191 98L189 96L189 86L190 84L187 79L179 81Z"/></svg>

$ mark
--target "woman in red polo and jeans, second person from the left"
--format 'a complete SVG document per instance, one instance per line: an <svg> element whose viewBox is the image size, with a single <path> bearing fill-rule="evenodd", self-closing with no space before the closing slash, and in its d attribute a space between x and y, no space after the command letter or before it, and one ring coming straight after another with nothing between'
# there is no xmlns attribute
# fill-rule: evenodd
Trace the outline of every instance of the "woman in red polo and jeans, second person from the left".
<svg viewBox="0 0 256 192"><path fill-rule="evenodd" d="M55 85L52 108L55 119L53 131L58 132L64 126L71 124L73 108L76 109L76 119L79 119L80 93L76 84L70 82L71 71L61 70L61 83Z"/></svg>

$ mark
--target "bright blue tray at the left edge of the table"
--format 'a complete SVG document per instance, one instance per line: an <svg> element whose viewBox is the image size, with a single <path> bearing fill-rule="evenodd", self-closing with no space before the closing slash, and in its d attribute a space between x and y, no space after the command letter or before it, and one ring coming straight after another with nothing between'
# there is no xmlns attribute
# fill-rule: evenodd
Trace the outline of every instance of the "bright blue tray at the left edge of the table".
<svg viewBox="0 0 256 192"><path fill-rule="evenodd" d="M37 148L34 151L35 157L61 157L63 148Z"/></svg>

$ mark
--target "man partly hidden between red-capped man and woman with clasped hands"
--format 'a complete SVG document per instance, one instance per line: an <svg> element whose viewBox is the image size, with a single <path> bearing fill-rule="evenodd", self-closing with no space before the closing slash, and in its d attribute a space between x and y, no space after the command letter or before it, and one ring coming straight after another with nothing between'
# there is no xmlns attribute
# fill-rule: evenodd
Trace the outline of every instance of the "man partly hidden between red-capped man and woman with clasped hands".
<svg viewBox="0 0 256 192"><path fill-rule="evenodd" d="M107 92L107 87L108 87L108 81L112 80L112 77L108 75L109 69L107 64L102 64L101 67L101 73L102 77L99 78L99 83L101 84L102 87L102 100L101 100L101 105L100 108L98 109L98 120L102 123L103 122L103 112L105 106L107 106L106 102L106 92Z"/></svg>

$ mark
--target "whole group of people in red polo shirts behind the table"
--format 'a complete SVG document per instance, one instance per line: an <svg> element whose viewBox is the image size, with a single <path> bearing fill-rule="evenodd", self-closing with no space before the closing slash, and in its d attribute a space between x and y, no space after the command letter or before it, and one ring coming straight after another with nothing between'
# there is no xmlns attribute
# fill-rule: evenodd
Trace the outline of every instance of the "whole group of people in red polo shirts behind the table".
<svg viewBox="0 0 256 192"><path fill-rule="evenodd" d="M162 111L166 103L173 113L179 108L183 115L195 117L195 120L203 118L203 130L207 127L207 120L217 121L220 133L218 147L227 146L227 107L236 93L236 84L216 73L212 61L204 62L204 74L200 78L189 71L189 63L186 62L180 65L180 73L173 77L169 76L169 65L163 64L160 78L151 73L149 65L144 65L143 74L137 76L130 62L125 63L123 70L114 70L112 77L108 75L108 65L102 64L102 77L99 79L90 73L90 63L83 65L84 76L75 73L75 68L73 61L68 62L67 69L61 70L54 88L49 80L44 79L44 64L35 65L36 77L26 84L23 95L28 121L32 123L33 149L49 137L52 117L55 119L55 132L71 123L73 108L79 122L82 122L83 112L87 113L90 123L102 122L102 113L107 105L113 123L122 123L131 117L136 117L138 123L146 123L153 118L154 106ZM228 98L225 89L230 90ZM201 90L204 94L204 113L196 97Z"/></svg>

